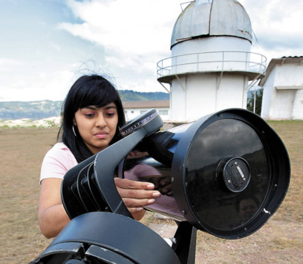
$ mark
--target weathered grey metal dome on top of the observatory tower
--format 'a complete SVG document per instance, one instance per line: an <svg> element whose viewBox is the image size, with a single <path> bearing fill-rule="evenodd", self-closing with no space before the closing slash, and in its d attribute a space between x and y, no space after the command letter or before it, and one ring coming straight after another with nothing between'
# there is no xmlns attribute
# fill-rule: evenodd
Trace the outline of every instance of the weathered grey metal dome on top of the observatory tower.
<svg viewBox="0 0 303 264"><path fill-rule="evenodd" d="M196 37L235 36L252 42L251 22L236 0L196 0L179 15L171 47Z"/></svg>

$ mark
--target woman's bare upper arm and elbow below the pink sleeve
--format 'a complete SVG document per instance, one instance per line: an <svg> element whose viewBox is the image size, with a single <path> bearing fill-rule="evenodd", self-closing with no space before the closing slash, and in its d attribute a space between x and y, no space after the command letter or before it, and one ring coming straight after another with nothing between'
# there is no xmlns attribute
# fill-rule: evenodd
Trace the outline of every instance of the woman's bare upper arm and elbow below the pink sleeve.
<svg viewBox="0 0 303 264"><path fill-rule="evenodd" d="M61 201L62 179L47 178L41 182L38 222L42 234L55 237L70 221Z"/></svg>

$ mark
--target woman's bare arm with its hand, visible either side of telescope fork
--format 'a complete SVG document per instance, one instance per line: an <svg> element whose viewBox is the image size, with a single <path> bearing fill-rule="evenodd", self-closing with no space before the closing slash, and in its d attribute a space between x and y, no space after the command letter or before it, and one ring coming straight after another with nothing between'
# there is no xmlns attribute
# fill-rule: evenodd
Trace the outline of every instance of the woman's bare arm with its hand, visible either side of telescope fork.
<svg viewBox="0 0 303 264"><path fill-rule="evenodd" d="M47 178L41 182L38 222L42 234L47 238L57 236L70 221L62 205L61 182L57 178ZM153 204L155 198L161 196L149 182L115 178L115 184L127 209L136 220L144 216L143 206Z"/></svg>

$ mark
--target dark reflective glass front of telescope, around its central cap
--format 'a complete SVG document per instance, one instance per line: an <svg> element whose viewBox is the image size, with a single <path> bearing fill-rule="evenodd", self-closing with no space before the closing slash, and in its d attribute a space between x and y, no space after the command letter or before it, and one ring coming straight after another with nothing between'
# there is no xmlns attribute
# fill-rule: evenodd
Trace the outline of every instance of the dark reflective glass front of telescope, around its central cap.
<svg viewBox="0 0 303 264"><path fill-rule="evenodd" d="M248 163L251 178L241 192L223 186L217 175L219 162L227 157L240 157ZM237 177L244 178L241 170L234 171L239 174ZM264 145L255 130L240 120L213 122L190 146L186 160L186 191L202 224L231 230L251 220L265 199L269 177Z"/></svg>

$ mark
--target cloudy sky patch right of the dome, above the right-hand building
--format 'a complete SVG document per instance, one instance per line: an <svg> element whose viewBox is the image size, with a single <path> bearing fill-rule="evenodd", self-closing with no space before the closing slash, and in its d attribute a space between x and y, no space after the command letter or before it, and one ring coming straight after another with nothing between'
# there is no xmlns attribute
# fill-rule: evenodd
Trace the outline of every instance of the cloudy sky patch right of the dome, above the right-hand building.
<svg viewBox="0 0 303 264"><path fill-rule="evenodd" d="M303 55L303 1L240 0L258 42L252 50L268 58Z"/></svg>

